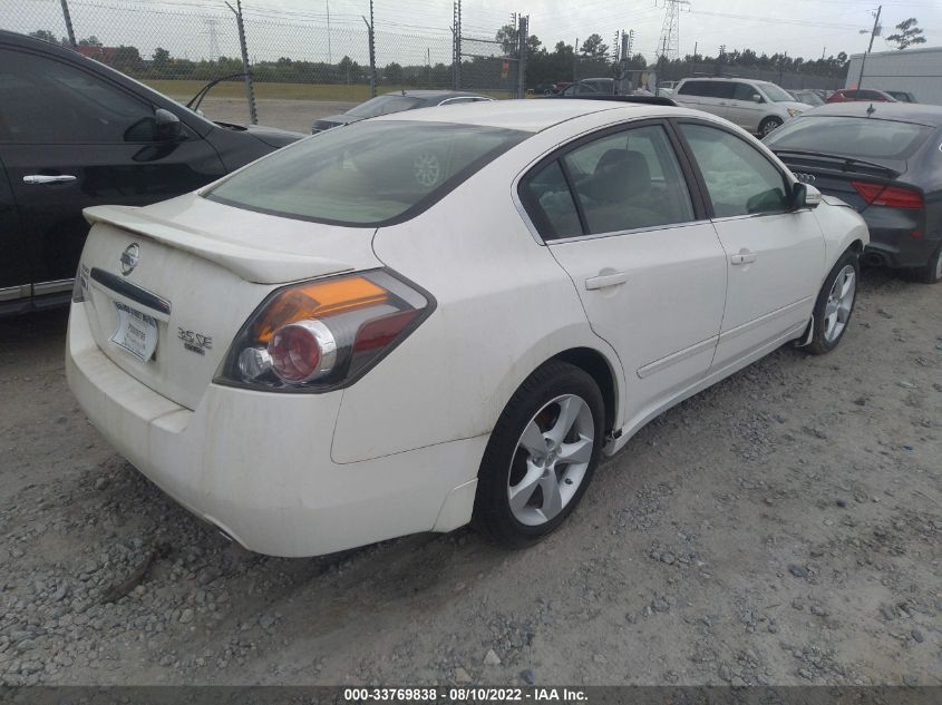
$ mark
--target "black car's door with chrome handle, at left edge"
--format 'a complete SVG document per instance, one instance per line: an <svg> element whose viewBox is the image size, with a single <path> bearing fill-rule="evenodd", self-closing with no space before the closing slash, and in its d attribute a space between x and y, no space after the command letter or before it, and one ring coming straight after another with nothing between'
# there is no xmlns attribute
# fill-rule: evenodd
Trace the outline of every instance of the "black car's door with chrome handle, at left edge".
<svg viewBox="0 0 942 705"><path fill-rule="evenodd" d="M36 296L71 290L86 206L146 205L225 173L196 134L161 139L153 105L77 62L0 47L0 159Z"/></svg>

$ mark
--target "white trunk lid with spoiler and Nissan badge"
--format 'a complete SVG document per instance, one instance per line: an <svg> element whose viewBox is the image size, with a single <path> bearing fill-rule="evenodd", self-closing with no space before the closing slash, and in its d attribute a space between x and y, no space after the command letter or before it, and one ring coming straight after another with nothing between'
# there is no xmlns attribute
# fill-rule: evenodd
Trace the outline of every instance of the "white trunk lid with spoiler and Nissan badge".
<svg viewBox="0 0 942 705"><path fill-rule="evenodd" d="M381 266L372 253L375 228L275 217L195 195L85 215L93 228L79 276L98 346L188 409L272 290Z"/></svg>

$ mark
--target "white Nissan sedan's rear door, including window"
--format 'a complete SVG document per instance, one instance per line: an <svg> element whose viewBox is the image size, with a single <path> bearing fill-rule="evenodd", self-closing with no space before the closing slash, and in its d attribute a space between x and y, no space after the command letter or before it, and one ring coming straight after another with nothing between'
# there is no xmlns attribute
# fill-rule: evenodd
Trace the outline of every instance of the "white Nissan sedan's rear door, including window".
<svg viewBox="0 0 942 705"><path fill-rule="evenodd" d="M702 378L726 257L667 126L582 139L537 166L521 196L592 329L621 359L629 423Z"/></svg>

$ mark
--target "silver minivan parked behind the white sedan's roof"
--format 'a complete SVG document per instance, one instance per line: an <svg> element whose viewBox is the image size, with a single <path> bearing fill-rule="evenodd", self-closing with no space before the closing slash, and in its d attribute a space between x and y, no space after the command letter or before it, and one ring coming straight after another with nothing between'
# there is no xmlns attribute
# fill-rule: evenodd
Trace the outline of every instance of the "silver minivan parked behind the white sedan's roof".
<svg viewBox="0 0 942 705"><path fill-rule="evenodd" d="M760 136L812 109L775 84L745 78L684 78L671 98L678 105L718 115Z"/></svg>

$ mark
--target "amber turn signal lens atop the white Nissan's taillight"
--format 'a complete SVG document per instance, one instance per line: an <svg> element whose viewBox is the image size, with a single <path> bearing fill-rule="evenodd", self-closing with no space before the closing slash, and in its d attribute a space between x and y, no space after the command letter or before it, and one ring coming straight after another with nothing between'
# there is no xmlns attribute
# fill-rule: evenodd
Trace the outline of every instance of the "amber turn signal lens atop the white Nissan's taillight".
<svg viewBox="0 0 942 705"><path fill-rule="evenodd" d="M385 302L389 293L362 276L350 276L290 288L279 294L255 324L255 337L263 343L278 329L304 319L365 309Z"/></svg>

